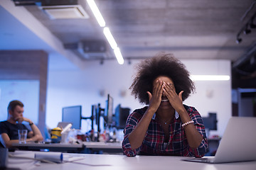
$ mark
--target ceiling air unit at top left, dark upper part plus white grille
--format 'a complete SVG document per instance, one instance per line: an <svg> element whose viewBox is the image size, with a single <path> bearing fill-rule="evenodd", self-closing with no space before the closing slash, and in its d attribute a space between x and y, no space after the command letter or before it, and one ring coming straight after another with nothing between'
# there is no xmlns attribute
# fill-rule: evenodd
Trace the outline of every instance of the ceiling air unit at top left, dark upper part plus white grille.
<svg viewBox="0 0 256 170"><path fill-rule="evenodd" d="M78 1L55 0L41 1L39 6L51 19L72 19L72 18L89 18L82 5Z"/></svg>

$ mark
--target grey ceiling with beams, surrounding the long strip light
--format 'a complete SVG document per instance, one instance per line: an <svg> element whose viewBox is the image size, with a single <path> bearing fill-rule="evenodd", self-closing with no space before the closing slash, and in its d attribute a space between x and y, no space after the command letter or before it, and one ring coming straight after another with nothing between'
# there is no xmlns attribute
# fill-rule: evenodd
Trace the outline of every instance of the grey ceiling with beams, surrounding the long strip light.
<svg viewBox="0 0 256 170"><path fill-rule="evenodd" d="M95 0L120 47L124 62L172 52L179 59L236 61L255 42L256 30L236 35L253 0ZM0 1L0 50L46 50L50 67L83 68L89 60L114 60L110 47L104 55L82 58L64 45L104 40L85 0L78 1L90 18L51 20L38 6L14 6ZM256 9L252 9L256 11ZM58 65L55 65L57 64Z"/></svg>

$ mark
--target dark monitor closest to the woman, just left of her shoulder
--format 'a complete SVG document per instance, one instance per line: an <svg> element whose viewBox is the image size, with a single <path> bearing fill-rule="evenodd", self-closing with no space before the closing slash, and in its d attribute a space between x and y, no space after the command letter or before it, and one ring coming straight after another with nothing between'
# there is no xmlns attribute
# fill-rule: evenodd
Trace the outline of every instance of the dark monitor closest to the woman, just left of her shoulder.
<svg viewBox="0 0 256 170"><path fill-rule="evenodd" d="M117 107L114 110L114 123L117 129L125 128L130 110L130 108L122 108L121 104L117 105Z"/></svg>

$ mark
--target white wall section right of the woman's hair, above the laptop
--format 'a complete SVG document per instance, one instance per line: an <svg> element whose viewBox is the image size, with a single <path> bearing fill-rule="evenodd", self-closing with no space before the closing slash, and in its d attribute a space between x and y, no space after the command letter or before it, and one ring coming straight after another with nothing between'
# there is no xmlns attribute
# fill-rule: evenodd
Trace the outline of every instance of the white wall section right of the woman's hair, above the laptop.
<svg viewBox="0 0 256 170"><path fill-rule="evenodd" d="M217 113L218 130L210 135L223 135L228 120L232 115L231 102L231 64L228 60L184 60L191 74L229 75L229 81L195 81L196 93L184 103L194 106L202 116L209 112Z"/></svg>

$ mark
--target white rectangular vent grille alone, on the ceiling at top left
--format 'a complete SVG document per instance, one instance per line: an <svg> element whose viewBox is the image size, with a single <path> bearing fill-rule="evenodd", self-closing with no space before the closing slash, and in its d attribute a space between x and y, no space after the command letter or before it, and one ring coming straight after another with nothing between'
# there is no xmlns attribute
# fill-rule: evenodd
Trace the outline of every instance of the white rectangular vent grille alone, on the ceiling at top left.
<svg viewBox="0 0 256 170"><path fill-rule="evenodd" d="M45 11L51 19L89 18L88 14L80 5L38 6L38 8Z"/></svg>

